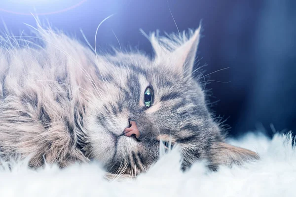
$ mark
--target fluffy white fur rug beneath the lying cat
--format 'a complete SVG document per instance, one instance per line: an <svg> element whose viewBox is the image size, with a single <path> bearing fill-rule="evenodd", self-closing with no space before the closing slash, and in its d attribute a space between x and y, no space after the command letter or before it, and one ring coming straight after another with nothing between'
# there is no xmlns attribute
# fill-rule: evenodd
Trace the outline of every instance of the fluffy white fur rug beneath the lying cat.
<svg viewBox="0 0 296 197"><path fill-rule="evenodd" d="M99 164L73 165L60 170L46 166L37 171L26 162L0 170L1 197L295 197L296 150L291 135L276 134L272 140L249 133L233 145L255 150L256 163L221 167L209 172L203 162L185 173L174 149L164 155L146 174L135 180L107 181Z"/></svg>

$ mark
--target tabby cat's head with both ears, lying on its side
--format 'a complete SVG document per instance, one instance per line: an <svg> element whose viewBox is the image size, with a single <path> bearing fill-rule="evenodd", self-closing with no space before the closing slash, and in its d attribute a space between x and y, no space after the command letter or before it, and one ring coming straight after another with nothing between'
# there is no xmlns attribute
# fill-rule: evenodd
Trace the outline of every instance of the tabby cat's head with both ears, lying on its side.
<svg viewBox="0 0 296 197"><path fill-rule="evenodd" d="M96 57L96 96L84 123L87 155L112 173L128 174L157 161L160 141L166 148L170 142L180 146L184 168L203 159L212 168L256 159L256 153L224 143L205 93L192 77L200 28L148 38L152 60L139 52Z"/></svg>

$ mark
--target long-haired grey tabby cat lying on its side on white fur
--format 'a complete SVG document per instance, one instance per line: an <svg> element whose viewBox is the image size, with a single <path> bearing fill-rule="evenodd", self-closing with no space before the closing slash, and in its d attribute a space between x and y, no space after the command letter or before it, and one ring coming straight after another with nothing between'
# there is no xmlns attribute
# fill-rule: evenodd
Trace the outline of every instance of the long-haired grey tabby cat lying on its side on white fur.
<svg viewBox="0 0 296 197"><path fill-rule="evenodd" d="M99 55L65 34L38 26L42 41L0 47L0 156L29 157L30 167L98 161L110 173L139 174L178 145L182 169L257 160L225 143L205 92L192 76L200 27L150 33L155 52Z"/></svg>

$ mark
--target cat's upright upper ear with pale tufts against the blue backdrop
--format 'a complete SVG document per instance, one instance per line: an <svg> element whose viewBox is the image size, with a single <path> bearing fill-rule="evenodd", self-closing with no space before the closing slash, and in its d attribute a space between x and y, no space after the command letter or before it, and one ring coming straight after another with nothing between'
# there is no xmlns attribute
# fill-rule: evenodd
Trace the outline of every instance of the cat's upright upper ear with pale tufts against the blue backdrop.
<svg viewBox="0 0 296 197"><path fill-rule="evenodd" d="M170 34L167 37L158 36L158 32L152 34L151 44L155 52L155 61L165 64L171 69L182 73L184 76L191 75L195 55L200 38L200 29L189 30L180 34Z"/></svg>

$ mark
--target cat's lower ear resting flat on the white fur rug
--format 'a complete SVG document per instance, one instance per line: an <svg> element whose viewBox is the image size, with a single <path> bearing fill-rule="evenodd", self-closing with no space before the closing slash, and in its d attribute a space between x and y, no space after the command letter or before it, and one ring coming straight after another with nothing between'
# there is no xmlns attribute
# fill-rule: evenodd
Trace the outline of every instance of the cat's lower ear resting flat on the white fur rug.
<svg viewBox="0 0 296 197"><path fill-rule="evenodd" d="M259 155L253 151L222 142L215 144L213 148L214 157L211 159L213 165L240 165L247 161L259 159Z"/></svg>

